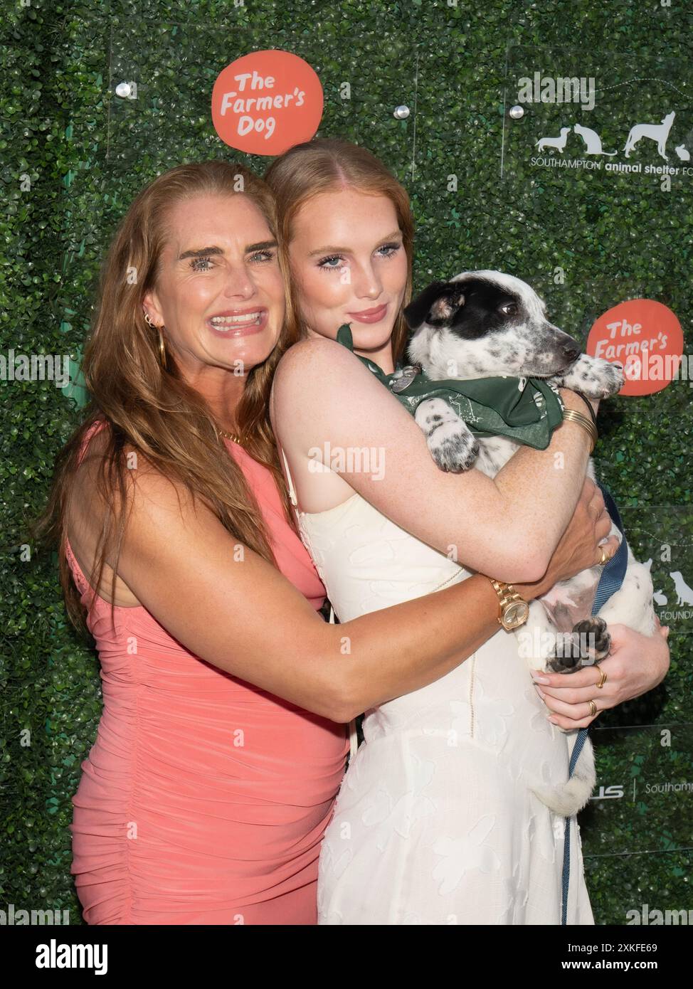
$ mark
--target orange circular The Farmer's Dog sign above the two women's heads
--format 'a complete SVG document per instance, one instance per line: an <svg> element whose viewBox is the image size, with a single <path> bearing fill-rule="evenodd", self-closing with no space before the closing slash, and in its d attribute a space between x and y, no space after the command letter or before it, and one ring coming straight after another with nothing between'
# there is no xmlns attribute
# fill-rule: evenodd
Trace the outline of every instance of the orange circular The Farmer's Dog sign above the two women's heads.
<svg viewBox="0 0 693 989"><path fill-rule="evenodd" d="M291 51L269 48L236 58L219 72L212 120L230 147L282 154L315 134L322 102L315 70Z"/></svg>

